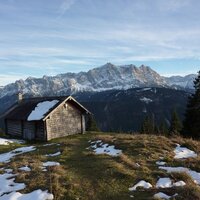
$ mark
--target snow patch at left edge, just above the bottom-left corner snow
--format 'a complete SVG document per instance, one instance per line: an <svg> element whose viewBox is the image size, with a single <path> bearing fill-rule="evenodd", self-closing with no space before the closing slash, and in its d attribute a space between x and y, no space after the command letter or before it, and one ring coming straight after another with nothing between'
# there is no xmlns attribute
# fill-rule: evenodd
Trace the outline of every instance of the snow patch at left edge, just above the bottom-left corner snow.
<svg viewBox="0 0 200 200"><path fill-rule="evenodd" d="M15 183L16 174L0 174L0 196L4 193L23 190L26 186L24 183Z"/></svg>

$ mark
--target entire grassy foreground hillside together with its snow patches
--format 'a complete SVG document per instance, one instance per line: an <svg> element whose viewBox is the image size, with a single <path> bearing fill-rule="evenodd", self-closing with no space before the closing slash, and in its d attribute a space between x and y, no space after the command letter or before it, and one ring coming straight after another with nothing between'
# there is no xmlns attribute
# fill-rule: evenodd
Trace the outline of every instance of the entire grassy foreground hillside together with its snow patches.
<svg viewBox="0 0 200 200"><path fill-rule="evenodd" d="M23 154L8 153L17 147L19 152L22 146L24 144L1 145L2 177L8 173L9 176L17 174L13 179L15 184L25 183L24 189L9 186L9 192L15 189L28 196L38 189L48 190L56 200L148 200L159 192L169 196L176 194L173 199L177 200L200 199L200 143L197 141L153 135L88 133L48 144L36 143L31 147L29 144L23 148L29 151ZM5 152L8 154L2 154ZM5 155L9 155L9 160ZM165 167L179 168L173 168L178 169L176 173L168 173ZM177 173L180 169L188 171ZM134 190L133 186L140 181L146 181L149 189ZM4 190L7 189L0 189ZM8 200L9 192L1 193L0 200Z"/></svg>

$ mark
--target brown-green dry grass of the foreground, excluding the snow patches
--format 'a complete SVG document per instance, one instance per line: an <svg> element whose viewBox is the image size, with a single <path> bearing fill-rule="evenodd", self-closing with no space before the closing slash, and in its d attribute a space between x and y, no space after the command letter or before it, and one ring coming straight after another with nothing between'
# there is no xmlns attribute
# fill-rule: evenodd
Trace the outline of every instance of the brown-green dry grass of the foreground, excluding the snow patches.
<svg viewBox="0 0 200 200"><path fill-rule="evenodd" d="M102 140L115 145L122 150L119 157L95 155L86 149L88 140ZM60 146L48 147L34 144L37 151L16 156L12 162L1 164L1 167L12 168L19 175L16 182L27 185L22 192L31 192L35 189L48 190L54 194L55 200L83 199L83 200L118 200L152 199L159 191L173 195L174 199L200 199L199 187L194 184L190 176L184 173L167 174L159 170L155 164L164 157L168 166L183 166L200 171L200 157L185 160L174 160L173 150L176 143L186 146L198 154L200 142L181 137L167 138L155 135L131 135L114 133L88 133L74 135L52 141ZM18 146L2 147L1 152L14 149ZM61 151L58 157L46 157L45 154ZM41 170L42 162L56 161L61 166L49 167L47 172ZM19 167L28 165L31 172L19 171ZM1 172L3 173L3 172ZM156 189L139 189L129 192L128 188L140 180L146 180L155 186L159 177L170 177L173 181L183 180L186 187Z"/></svg>

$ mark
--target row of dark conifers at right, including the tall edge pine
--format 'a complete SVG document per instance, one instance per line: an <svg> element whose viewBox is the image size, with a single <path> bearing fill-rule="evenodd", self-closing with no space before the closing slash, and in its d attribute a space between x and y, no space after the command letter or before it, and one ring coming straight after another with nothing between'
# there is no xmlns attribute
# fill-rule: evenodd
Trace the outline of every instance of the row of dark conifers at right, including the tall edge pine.
<svg viewBox="0 0 200 200"><path fill-rule="evenodd" d="M154 116L146 116L141 132L146 134L183 135L185 137L200 138L200 71L194 80L195 92L189 96L185 118L180 120L176 110L172 112L168 125L165 121L159 125L155 123Z"/></svg>

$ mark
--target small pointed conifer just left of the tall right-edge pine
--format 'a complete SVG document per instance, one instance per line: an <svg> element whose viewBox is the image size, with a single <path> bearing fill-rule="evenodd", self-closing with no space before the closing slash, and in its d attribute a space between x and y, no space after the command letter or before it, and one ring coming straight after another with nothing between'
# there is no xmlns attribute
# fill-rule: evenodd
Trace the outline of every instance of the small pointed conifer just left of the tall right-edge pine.
<svg viewBox="0 0 200 200"><path fill-rule="evenodd" d="M182 123L178 117L176 110L172 112L169 133L171 135L178 135L182 129Z"/></svg>

